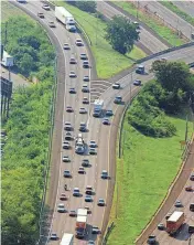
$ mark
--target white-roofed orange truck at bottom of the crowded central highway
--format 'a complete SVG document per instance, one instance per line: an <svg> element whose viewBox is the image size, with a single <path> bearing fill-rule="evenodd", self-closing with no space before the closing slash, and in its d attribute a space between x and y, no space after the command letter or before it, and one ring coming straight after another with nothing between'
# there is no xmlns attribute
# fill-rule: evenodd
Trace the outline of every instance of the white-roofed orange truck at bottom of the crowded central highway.
<svg viewBox="0 0 194 245"><path fill-rule="evenodd" d="M75 227L77 238L84 238L86 234L86 225L87 225L87 210L78 209L76 227Z"/></svg>

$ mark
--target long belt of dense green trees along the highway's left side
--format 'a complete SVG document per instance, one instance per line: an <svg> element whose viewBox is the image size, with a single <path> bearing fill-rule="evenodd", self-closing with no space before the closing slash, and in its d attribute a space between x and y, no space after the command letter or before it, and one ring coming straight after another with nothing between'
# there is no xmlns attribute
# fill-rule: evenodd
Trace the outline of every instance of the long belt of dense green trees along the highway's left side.
<svg viewBox="0 0 194 245"><path fill-rule="evenodd" d="M9 20L6 47L14 55L18 70L39 82L14 90L3 126L8 139L1 163L1 244L34 245L47 164L54 52L42 29L25 18ZM33 63L30 67L25 57Z"/></svg>

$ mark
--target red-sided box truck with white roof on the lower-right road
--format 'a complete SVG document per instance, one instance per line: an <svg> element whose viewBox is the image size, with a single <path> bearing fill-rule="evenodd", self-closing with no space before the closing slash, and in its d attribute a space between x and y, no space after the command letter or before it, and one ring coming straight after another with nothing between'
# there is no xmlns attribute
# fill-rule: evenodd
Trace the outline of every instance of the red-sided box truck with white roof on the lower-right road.
<svg viewBox="0 0 194 245"><path fill-rule="evenodd" d="M170 235L174 235L177 230L184 223L184 213L181 211L174 211L172 215L166 220L166 232Z"/></svg>

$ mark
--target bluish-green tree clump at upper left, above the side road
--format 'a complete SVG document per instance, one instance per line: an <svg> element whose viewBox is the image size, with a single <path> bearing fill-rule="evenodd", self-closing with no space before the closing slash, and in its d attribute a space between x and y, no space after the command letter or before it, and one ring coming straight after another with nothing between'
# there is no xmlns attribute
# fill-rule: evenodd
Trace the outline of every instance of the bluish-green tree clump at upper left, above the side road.
<svg viewBox="0 0 194 245"><path fill-rule="evenodd" d="M34 25L26 18L14 17L2 24L2 43L8 53L13 55L18 72L24 76L48 66L53 62L54 53L45 40L40 25Z"/></svg>

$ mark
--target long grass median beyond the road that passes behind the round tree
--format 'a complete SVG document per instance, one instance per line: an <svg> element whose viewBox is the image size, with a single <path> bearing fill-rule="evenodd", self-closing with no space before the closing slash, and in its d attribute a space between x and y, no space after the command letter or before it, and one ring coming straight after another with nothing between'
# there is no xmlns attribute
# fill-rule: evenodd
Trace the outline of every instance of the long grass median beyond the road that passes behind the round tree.
<svg viewBox="0 0 194 245"><path fill-rule="evenodd" d="M125 11L129 12L133 17L137 17L137 7L132 4L131 2L115 2L114 1L114 3L122 8ZM174 31L165 26L161 21L157 20L150 14L142 12L140 9L138 12L138 17L140 21L142 21L144 24L151 28L154 32L157 32L161 38L168 41L171 45L179 46L185 43L183 39L180 39L179 35L174 33Z"/></svg>

